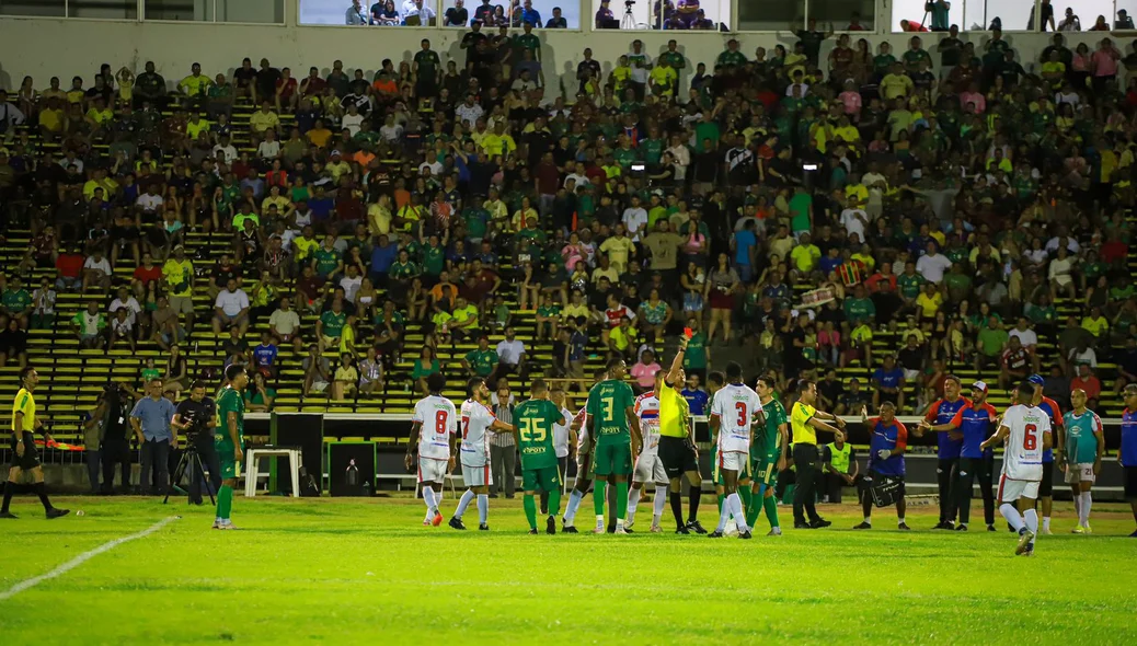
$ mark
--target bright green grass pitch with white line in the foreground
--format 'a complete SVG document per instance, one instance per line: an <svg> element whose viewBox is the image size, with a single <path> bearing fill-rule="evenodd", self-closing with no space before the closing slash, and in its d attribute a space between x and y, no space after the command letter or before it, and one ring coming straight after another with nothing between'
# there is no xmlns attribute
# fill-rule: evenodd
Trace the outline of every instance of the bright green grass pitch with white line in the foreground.
<svg viewBox="0 0 1137 646"><path fill-rule="evenodd" d="M1137 643L1137 540L1121 505L1095 505L1090 537L1070 535L1059 505L1055 536L1023 558L1006 531L928 531L928 507L905 533L891 510L850 531L861 514L846 505L821 507L829 530L766 538L760 520L754 540L714 541L526 536L520 496L490 502L490 533L424 528L405 497L239 496L233 532L184 499L60 499L84 515L50 522L16 503L20 520L0 524L0 594L182 517L0 601L2 644ZM455 503L447 491L445 515ZM649 515L641 503L637 524ZM713 524L714 505L702 515Z"/></svg>

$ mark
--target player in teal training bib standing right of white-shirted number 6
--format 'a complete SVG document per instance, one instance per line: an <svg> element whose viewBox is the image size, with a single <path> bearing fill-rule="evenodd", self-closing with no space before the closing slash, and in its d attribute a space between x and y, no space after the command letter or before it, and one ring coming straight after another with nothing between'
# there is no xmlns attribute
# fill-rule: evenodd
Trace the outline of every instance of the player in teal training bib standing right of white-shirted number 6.
<svg viewBox="0 0 1137 646"><path fill-rule="evenodd" d="M1062 420L1067 436L1063 442L1065 455L1062 449L1054 452L1054 462L1065 472L1067 484L1073 495L1073 508L1078 512L1078 525L1073 528L1073 533L1089 533L1089 508L1093 506L1089 490L1102 471L1102 455L1105 453L1102 420L1086 407L1086 400L1085 390L1074 388L1070 392L1073 411L1067 411Z"/></svg>

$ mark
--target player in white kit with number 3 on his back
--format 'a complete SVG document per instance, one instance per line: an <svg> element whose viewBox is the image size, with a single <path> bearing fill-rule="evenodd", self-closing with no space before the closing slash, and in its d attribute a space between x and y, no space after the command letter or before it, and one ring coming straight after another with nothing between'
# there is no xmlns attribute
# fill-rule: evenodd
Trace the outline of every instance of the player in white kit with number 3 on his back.
<svg viewBox="0 0 1137 646"><path fill-rule="evenodd" d="M750 538L746 524L746 508L750 502L750 441L755 421L765 422L762 415L762 399L753 388L742 383L742 366L727 364L727 386L714 394L711 401L711 434L719 448L719 471L722 473L723 499L719 513L719 527L709 538L722 538L727 520L735 517L739 538ZM741 489L746 502L739 495Z"/></svg>

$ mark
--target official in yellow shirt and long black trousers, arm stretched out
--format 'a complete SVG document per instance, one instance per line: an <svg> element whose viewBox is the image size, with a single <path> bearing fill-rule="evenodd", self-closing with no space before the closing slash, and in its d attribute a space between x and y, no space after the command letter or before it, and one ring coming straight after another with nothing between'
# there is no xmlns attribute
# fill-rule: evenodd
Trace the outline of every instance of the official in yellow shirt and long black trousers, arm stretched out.
<svg viewBox="0 0 1137 646"><path fill-rule="evenodd" d="M818 515L814 499L818 489L818 431L833 433L840 440L845 439L845 421L833 415L818 411L813 405L818 401L818 386L812 381L799 381L798 399L790 414L790 426L794 430L794 465L797 467L797 489L794 491L794 528L819 529L832 523ZM837 424L827 424L828 420ZM808 522L806 522L808 516Z"/></svg>

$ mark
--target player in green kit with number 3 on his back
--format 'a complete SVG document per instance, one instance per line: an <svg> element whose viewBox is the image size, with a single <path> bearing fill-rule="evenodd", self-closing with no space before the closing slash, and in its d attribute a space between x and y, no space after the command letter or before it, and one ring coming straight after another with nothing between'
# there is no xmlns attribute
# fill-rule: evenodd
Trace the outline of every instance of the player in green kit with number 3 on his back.
<svg viewBox="0 0 1137 646"><path fill-rule="evenodd" d="M592 510L596 512L595 533L605 532L604 498L609 480L616 487L616 533L624 531L628 514L628 475L632 471L632 455L639 453L642 441L636 419L636 397L624 381L628 366L624 359L608 362L608 379L597 383L588 394L589 440L592 452Z"/></svg>

